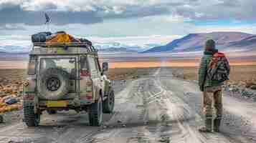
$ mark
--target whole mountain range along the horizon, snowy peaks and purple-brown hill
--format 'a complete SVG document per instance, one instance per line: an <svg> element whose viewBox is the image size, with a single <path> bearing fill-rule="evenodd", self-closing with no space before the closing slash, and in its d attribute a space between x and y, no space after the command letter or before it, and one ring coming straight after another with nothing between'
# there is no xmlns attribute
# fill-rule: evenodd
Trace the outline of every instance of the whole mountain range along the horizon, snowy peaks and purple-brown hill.
<svg viewBox="0 0 256 143"><path fill-rule="evenodd" d="M166 45L160 44L122 44L120 42L93 42L100 53L177 53L202 51L207 39L214 39L217 49L232 51L256 51L256 35L242 32L212 32L206 34L188 34ZM0 52L27 53L31 46L0 45Z"/></svg>

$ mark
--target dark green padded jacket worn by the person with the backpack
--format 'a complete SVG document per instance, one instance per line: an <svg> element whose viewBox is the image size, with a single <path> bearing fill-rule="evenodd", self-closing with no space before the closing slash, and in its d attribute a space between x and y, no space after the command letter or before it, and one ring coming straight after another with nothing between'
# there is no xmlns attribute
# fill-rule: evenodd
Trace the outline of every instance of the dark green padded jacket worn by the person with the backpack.
<svg viewBox="0 0 256 143"><path fill-rule="evenodd" d="M204 91L205 87L214 87L221 85L219 82L212 81L207 77L207 67L209 62L212 59L212 55L214 54L213 51L204 51L204 56L201 59L199 71L198 71L198 80L199 80L199 87L201 91Z"/></svg>

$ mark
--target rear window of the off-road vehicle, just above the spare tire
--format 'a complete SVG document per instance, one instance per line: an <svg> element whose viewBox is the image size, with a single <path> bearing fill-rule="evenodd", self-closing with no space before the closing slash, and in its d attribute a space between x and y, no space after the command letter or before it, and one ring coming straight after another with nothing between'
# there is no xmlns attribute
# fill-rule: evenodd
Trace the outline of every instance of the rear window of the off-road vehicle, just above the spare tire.
<svg viewBox="0 0 256 143"><path fill-rule="evenodd" d="M41 59L40 73L49 68L57 68L67 71L69 74L75 75L75 58L65 59Z"/></svg>

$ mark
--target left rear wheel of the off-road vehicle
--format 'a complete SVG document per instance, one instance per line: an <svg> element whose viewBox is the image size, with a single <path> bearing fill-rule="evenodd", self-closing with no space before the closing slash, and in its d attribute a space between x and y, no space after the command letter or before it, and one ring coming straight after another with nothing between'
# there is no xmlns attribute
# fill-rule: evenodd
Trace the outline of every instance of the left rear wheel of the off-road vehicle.
<svg viewBox="0 0 256 143"><path fill-rule="evenodd" d="M37 127L40 123L40 113L34 114L34 106L24 104L24 122L28 127Z"/></svg>

